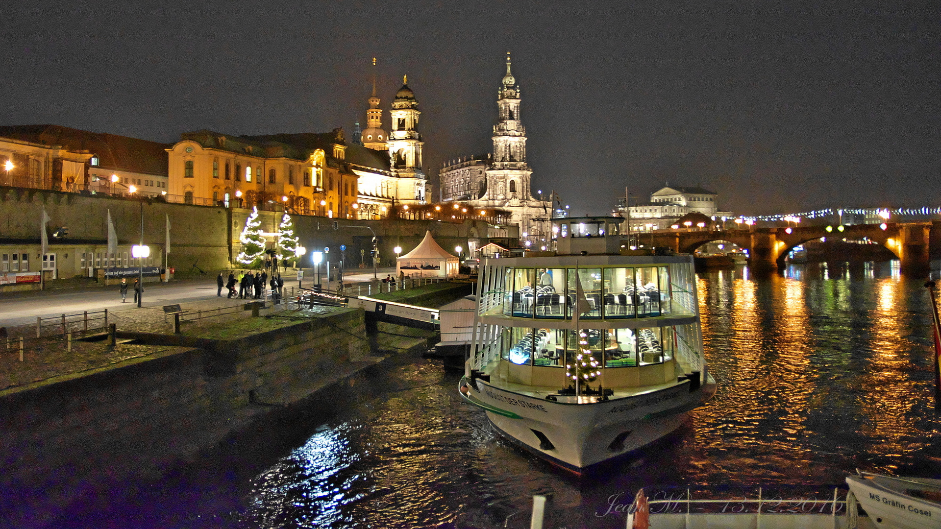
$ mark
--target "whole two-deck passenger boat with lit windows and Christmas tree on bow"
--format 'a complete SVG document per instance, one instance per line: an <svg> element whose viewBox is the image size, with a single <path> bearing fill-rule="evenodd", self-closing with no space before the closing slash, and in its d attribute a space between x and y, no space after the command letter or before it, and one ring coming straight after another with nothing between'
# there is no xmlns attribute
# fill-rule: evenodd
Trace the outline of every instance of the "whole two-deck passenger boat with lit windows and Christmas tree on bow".
<svg viewBox="0 0 941 529"><path fill-rule="evenodd" d="M661 439L715 393L693 256L624 248L622 220L556 219L557 251L484 262L458 387L575 473Z"/></svg>

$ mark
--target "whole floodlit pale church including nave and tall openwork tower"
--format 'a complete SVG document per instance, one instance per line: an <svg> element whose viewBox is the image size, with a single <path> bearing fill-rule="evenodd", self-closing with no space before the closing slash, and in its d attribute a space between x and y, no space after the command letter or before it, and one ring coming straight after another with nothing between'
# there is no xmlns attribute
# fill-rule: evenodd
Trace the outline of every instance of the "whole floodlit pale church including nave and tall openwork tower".
<svg viewBox="0 0 941 529"><path fill-rule="evenodd" d="M445 163L439 171L442 201L459 201L474 208L510 212L510 222L525 241L549 246L552 204L533 198L533 170L526 163L526 128L519 113L520 95L506 57L506 74L498 91L499 121L493 127L493 152ZM533 249L541 249L534 248Z"/></svg>

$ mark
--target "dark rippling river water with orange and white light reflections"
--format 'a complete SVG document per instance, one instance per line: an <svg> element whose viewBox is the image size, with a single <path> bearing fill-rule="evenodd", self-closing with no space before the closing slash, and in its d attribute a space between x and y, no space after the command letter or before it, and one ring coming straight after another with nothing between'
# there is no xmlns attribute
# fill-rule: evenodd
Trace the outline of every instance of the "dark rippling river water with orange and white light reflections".
<svg viewBox="0 0 941 529"><path fill-rule="evenodd" d="M519 452L458 398L458 375L400 355L69 526L528 527L532 496L547 494L547 528L614 528L640 487L809 498L856 468L937 476L923 282L894 263L701 274L718 392L671 438L592 477Z"/></svg>

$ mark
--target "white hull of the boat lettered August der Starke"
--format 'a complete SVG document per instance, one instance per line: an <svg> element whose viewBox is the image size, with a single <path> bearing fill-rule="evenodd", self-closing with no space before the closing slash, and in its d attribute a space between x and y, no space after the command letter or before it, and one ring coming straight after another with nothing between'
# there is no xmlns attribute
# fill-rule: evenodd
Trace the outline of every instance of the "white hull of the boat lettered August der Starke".
<svg viewBox="0 0 941 529"><path fill-rule="evenodd" d="M486 409L487 418L518 446L575 473L658 441L686 420L687 412L715 392L689 380L630 397L566 404L502 390L483 380L462 395Z"/></svg>

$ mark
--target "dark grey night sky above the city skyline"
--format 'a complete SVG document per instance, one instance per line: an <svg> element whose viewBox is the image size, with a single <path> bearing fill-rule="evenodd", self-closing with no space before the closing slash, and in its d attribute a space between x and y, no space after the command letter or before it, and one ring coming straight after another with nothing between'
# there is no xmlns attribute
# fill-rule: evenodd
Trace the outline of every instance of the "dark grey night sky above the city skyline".
<svg viewBox="0 0 941 529"><path fill-rule="evenodd" d="M425 164L490 150L507 51L535 189L737 213L939 205L938 2L5 2L0 124L352 133L407 73ZM436 187L437 196L437 187Z"/></svg>

